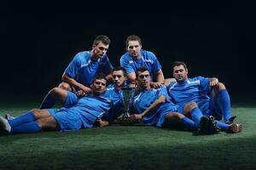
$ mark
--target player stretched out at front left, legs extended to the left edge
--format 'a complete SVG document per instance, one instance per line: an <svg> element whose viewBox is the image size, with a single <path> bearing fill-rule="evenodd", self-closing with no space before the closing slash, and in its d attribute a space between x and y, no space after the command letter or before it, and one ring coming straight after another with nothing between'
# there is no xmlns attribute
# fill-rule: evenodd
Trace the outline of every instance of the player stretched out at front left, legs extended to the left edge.
<svg viewBox="0 0 256 170"><path fill-rule="evenodd" d="M12 120L0 116L0 127L7 133L36 133L41 130L78 130L92 127L98 118L107 117L112 101L102 97L107 80L95 77L90 88L92 94L85 95L75 104L61 109L33 109Z"/></svg>

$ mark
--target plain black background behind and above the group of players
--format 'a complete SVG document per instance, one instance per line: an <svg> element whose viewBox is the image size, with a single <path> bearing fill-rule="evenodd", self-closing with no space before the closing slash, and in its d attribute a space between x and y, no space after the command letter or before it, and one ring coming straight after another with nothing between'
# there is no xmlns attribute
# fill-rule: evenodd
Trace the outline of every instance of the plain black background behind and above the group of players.
<svg viewBox="0 0 256 170"><path fill-rule="evenodd" d="M110 37L113 65L137 34L165 77L183 60L189 77L218 77L232 97L253 97L255 12L249 3L9 3L1 6L3 96L43 97L61 82L73 56L97 35Z"/></svg>

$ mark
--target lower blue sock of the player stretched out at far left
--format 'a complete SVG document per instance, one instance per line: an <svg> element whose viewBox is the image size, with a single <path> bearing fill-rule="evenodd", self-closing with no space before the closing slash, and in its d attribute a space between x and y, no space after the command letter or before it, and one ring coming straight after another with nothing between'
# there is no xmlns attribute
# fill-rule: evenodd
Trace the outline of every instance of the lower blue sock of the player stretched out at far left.
<svg viewBox="0 0 256 170"><path fill-rule="evenodd" d="M12 127L10 133L37 133L41 130L37 122L27 122L20 126Z"/></svg>

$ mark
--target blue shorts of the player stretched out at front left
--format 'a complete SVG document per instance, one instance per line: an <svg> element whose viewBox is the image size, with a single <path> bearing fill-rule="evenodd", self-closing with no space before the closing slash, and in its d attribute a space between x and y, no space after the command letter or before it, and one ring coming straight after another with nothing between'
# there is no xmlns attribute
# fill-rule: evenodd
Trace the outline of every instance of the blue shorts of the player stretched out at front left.
<svg viewBox="0 0 256 170"><path fill-rule="evenodd" d="M80 116L74 112L68 112L67 108L49 109L50 115L61 128L61 131L79 130L83 127Z"/></svg>

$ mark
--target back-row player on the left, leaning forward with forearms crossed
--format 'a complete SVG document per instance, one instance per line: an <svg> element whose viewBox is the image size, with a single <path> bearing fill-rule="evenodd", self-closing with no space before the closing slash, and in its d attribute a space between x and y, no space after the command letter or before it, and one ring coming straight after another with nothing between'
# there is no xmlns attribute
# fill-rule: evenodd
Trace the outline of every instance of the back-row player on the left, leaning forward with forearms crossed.
<svg viewBox="0 0 256 170"><path fill-rule="evenodd" d="M90 84L97 74L103 73L106 75L107 80L110 79L113 66L106 54L109 44L110 39L101 35L95 38L90 51L76 54L67 66L66 71L64 71L63 82L59 87L74 93L90 94ZM44 100L51 100L49 94L46 95ZM45 101L40 106L40 109L44 108L46 108Z"/></svg>

